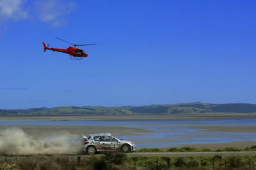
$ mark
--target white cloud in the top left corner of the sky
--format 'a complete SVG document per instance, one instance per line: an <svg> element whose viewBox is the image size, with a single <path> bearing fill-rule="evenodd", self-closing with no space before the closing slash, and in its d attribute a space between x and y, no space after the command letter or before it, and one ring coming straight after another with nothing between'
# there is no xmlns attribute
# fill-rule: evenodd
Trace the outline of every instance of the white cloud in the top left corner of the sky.
<svg viewBox="0 0 256 170"><path fill-rule="evenodd" d="M25 0L0 0L0 21L28 17L26 10L22 9L24 2Z"/></svg>

